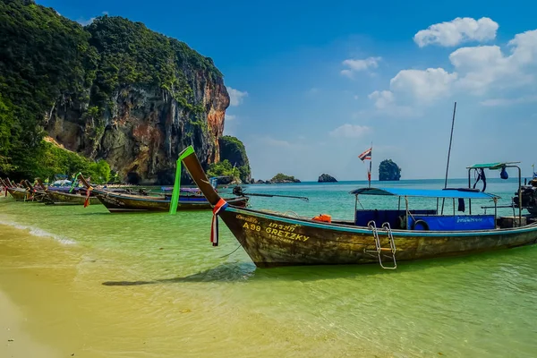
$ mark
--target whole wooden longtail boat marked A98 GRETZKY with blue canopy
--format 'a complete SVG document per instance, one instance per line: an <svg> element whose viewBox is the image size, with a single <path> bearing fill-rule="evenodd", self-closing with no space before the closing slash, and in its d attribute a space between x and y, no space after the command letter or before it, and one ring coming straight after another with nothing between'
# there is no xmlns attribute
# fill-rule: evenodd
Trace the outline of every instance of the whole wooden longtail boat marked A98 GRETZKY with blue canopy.
<svg viewBox="0 0 537 358"><path fill-rule="evenodd" d="M356 195L392 195L405 209L356 210L354 222L323 222L272 212L237 208L222 200L209 184L192 147L180 155L201 192L235 238L260 268L292 265L339 265L377 262L396 268L396 261L421 260L507 249L536 243L537 225L513 227L496 215L438 215L435 210L410 210L408 199L430 197L452 201L494 200L469 189L421 191L362 188ZM460 200L458 200L460 202ZM438 200L437 200L438 202ZM442 213L443 214L443 213ZM471 214L471 209L470 209ZM399 224L400 223L400 224ZM215 227L213 221L213 227ZM510 227L507 227L509 226ZM216 226L217 227L217 226ZM394 229L392 229L394 227ZM213 245L217 239L211 236Z"/></svg>

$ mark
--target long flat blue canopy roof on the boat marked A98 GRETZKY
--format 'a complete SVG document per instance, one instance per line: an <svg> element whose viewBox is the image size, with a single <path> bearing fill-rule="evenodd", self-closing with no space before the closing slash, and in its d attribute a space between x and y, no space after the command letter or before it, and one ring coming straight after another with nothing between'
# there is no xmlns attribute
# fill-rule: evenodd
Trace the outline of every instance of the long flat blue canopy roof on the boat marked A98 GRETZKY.
<svg viewBox="0 0 537 358"><path fill-rule="evenodd" d="M441 199L492 199L499 198L498 195L488 192L473 192L469 189L405 189L405 188L360 188L351 192L354 195L393 195L393 196L412 196L423 198L441 198Z"/></svg>

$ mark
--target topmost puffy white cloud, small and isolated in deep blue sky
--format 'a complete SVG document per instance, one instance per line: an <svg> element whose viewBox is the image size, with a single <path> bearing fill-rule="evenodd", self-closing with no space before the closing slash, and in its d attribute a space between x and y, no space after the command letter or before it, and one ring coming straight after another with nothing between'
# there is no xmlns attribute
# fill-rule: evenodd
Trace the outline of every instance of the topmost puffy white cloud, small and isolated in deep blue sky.
<svg viewBox="0 0 537 358"><path fill-rule="evenodd" d="M479 20L457 17L453 21L435 23L427 30L418 31L413 40L419 47L432 44L451 47L468 41L484 42L494 39L498 28L498 22L488 17Z"/></svg>

